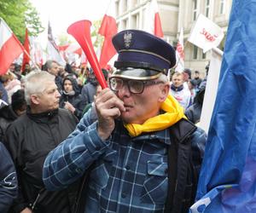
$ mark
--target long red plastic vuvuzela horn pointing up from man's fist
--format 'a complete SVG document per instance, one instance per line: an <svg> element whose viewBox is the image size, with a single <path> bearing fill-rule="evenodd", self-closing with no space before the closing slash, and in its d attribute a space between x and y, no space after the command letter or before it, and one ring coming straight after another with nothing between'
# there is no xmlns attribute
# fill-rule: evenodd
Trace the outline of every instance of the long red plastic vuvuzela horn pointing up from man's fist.
<svg viewBox="0 0 256 213"><path fill-rule="evenodd" d="M108 85L91 43L90 26L90 20L79 20L73 23L71 26L68 26L67 32L77 40L81 48L84 50L84 54L89 60L90 66L92 67L98 82L102 86L102 89L105 89L108 87Z"/></svg>

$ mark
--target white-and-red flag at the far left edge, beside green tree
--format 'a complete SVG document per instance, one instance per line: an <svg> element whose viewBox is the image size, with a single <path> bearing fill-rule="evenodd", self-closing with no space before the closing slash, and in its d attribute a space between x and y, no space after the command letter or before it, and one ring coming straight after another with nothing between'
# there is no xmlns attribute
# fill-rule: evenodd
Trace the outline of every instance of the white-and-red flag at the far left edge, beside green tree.
<svg viewBox="0 0 256 213"><path fill-rule="evenodd" d="M0 18L0 75L6 73L11 63L23 52L23 46Z"/></svg>

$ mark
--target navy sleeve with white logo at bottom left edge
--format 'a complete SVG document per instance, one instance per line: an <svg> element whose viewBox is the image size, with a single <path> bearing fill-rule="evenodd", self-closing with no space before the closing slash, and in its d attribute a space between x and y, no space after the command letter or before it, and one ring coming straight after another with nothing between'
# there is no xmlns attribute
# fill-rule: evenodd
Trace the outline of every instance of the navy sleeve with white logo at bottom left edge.
<svg viewBox="0 0 256 213"><path fill-rule="evenodd" d="M15 165L8 151L0 142L0 212L6 213L18 195Z"/></svg>

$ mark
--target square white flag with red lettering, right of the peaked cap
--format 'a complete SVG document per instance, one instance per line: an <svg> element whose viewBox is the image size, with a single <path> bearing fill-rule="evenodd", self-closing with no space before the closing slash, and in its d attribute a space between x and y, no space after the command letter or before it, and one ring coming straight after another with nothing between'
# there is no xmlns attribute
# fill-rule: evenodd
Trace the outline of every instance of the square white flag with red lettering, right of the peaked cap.
<svg viewBox="0 0 256 213"><path fill-rule="evenodd" d="M212 48L217 48L223 38L223 30L212 20L200 14L190 32L188 41L203 49L203 52L206 53Z"/></svg>

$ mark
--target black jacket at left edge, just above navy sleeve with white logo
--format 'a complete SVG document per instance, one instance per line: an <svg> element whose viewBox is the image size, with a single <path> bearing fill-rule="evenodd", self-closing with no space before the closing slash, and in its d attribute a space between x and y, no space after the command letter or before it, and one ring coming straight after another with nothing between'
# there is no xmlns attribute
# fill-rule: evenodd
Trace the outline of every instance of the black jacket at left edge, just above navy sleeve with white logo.
<svg viewBox="0 0 256 213"><path fill-rule="evenodd" d="M3 141L6 129L16 118L18 118L18 115L13 111L10 105L0 109L0 141Z"/></svg>

